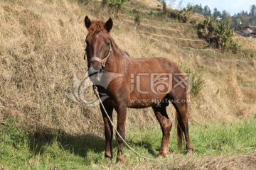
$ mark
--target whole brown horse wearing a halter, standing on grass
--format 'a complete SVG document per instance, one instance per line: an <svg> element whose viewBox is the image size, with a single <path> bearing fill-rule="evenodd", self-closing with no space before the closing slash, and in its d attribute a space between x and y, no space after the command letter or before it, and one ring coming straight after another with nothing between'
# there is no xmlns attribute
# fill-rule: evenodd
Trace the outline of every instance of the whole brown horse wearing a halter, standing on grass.
<svg viewBox="0 0 256 170"><path fill-rule="evenodd" d="M178 149L183 134L186 140L185 152L193 151L188 135L188 77L178 66L164 57L134 59L119 49L110 36L113 21L91 21L85 17L86 55L88 73L101 96L107 96L103 105L112 118L117 111L117 131L124 138L127 108L152 107L163 134L161 149L157 157L169 154L171 120L166 113L169 101L176 109ZM112 73L105 76L102 74ZM100 106L105 124L105 157L112 158L113 128ZM117 135L117 162L124 162L123 142Z"/></svg>

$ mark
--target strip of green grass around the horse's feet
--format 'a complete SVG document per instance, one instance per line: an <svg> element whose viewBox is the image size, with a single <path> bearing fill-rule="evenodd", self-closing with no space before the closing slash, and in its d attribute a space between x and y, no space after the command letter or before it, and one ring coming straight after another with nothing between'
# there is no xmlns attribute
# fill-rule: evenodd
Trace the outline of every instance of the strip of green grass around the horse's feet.
<svg viewBox="0 0 256 170"><path fill-rule="evenodd" d="M210 123L190 125L194 157L231 155L254 152L256 149L256 118L239 123ZM140 154L154 158L161 144L159 125L146 125L127 130L127 142ZM117 146L114 140L114 159L104 158L105 140L97 135L68 135L64 132L36 130L29 132L15 127L14 120L7 120L0 128L0 169L102 169L119 167L114 164ZM170 150L178 157L176 130L170 137ZM139 157L124 147L125 165L138 164ZM162 160L164 162L164 159ZM146 164L142 160L141 164Z"/></svg>

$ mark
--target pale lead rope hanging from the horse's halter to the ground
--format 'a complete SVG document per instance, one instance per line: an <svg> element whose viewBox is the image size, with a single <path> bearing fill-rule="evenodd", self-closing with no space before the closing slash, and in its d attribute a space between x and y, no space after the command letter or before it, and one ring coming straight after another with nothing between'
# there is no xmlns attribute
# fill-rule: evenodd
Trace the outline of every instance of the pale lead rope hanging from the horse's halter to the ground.
<svg viewBox="0 0 256 170"><path fill-rule="evenodd" d="M102 103L102 100L100 99L99 92L97 91L97 86L93 85L93 90L94 90L94 92L95 92L95 95L97 96L97 98L98 98L99 101L100 101L100 105L102 106L103 111L105 111L105 113L106 113L106 115L107 115L107 119L110 121L112 127L114 128L114 123L112 122L110 116L107 114L107 111L106 111L106 109L105 109L105 107L104 107L104 105L103 105L103 103ZM130 147L130 146L127 144L127 142L125 142L124 138L122 138L122 136L121 136L121 135L119 134L119 132L117 131L117 128L114 128L114 131L117 132L117 135L120 137L120 139L122 140L122 142L124 142L124 144L127 145L127 147L128 147L129 149L131 149L132 152L134 152L135 154L137 154L139 157L142 157L142 158L144 158L144 159L149 159L149 160L152 160L152 161L156 161L156 160L157 160L157 159L151 159L151 158L149 158L149 157L144 157L142 154L139 154L138 152L136 152L132 147ZM118 145L118 147L119 147L118 142L117 142L117 145ZM120 150L120 149L119 149L119 150Z"/></svg>

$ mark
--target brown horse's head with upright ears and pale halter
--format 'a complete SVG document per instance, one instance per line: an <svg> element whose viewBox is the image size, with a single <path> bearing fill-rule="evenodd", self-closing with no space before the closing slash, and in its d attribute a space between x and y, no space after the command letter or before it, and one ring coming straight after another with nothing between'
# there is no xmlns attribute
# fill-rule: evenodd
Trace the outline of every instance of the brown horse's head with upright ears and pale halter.
<svg viewBox="0 0 256 170"><path fill-rule="evenodd" d="M100 79L98 73L102 73L107 60L109 60L112 52L112 39L110 30L113 21L110 18L106 23L102 21L91 21L85 17L85 27L88 30L86 36L86 55L88 74L91 79ZM93 75L93 76L92 76Z"/></svg>

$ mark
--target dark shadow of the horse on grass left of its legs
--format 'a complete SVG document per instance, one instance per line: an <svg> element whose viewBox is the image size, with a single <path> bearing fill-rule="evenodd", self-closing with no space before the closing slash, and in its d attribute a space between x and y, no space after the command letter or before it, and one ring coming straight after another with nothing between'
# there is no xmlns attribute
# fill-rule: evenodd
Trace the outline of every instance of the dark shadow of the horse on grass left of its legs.
<svg viewBox="0 0 256 170"><path fill-rule="evenodd" d="M68 150L70 153L87 157L89 151L100 153L104 151L105 140L93 134L70 135L65 132L53 132L50 129L36 130L29 137L28 145L31 157L43 154L48 145L58 142L60 149Z"/></svg>

